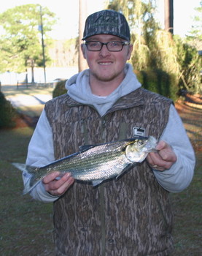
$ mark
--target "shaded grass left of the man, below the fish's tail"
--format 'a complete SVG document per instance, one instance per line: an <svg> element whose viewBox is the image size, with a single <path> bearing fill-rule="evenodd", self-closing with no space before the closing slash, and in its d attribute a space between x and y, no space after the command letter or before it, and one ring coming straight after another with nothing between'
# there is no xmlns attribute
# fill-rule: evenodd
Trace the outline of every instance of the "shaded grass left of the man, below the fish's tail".
<svg viewBox="0 0 202 256"><path fill-rule="evenodd" d="M25 162L31 128L0 131L0 255L53 255L53 205L22 195L21 173L12 162Z"/></svg>

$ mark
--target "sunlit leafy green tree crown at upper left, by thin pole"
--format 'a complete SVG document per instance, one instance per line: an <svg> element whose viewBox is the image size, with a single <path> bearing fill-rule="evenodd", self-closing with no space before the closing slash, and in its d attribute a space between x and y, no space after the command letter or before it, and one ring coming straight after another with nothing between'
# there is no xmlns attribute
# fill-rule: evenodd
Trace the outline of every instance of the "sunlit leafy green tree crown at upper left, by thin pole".
<svg viewBox="0 0 202 256"><path fill-rule="evenodd" d="M51 31L55 22L55 14L47 7L40 12L39 4L25 4L1 13L0 24L4 34L0 39L0 71L24 72L28 66L42 67L42 26L45 61L50 60L47 46L51 40L47 37L47 31Z"/></svg>

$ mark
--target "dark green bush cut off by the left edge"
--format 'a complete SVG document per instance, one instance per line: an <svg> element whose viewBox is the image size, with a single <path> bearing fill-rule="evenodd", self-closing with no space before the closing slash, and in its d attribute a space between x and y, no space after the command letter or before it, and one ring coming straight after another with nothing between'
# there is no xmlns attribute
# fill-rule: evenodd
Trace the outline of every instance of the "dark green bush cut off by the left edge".
<svg viewBox="0 0 202 256"><path fill-rule="evenodd" d="M0 91L0 128L15 127L17 112Z"/></svg>

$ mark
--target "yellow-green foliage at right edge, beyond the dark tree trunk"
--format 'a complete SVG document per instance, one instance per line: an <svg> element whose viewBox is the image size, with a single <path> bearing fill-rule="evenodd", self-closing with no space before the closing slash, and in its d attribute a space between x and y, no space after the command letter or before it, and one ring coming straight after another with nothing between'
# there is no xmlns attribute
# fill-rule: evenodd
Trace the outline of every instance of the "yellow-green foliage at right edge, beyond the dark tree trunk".
<svg viewBox="0 0 202 256"><path fill-rule="evenodd" d="M179 89L201 94L202 1L195 7L192 29L185 39L175 36L177 61L180 65Z"/></svg>

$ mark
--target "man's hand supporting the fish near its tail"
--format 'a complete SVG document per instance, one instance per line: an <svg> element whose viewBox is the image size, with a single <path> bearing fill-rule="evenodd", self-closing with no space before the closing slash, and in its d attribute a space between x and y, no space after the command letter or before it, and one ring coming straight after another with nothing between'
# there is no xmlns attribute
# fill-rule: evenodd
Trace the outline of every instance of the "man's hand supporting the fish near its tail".
<svg viewBox="0 0 202 256"><path fill-rule="evenodd" d="M57 180L56 178L60 175L60 172L53 172L45 176L42 180L45 190L51 195L63 195L63 193L74 183L74 178L71 177L70 173L64 174Z"/></svg>

